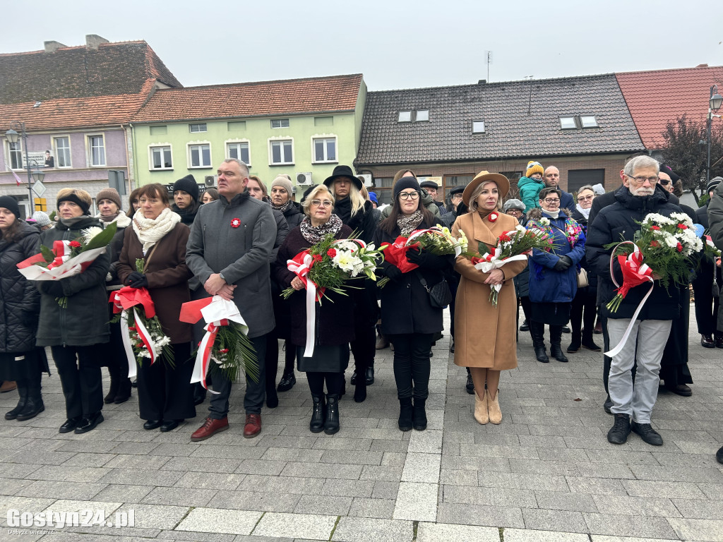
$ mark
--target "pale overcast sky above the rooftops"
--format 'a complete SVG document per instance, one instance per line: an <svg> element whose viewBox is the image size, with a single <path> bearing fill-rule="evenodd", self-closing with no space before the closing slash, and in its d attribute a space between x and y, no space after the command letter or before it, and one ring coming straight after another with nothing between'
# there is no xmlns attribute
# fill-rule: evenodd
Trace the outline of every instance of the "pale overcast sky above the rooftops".
<svg viewBox="0 0 723 542"><path fill-rule="evenodd" d="M0 53L146 40L184 86L363 73L369 90L723 64L716 1L0 3ZM716 7L717 6L717 7Z"/></svg>

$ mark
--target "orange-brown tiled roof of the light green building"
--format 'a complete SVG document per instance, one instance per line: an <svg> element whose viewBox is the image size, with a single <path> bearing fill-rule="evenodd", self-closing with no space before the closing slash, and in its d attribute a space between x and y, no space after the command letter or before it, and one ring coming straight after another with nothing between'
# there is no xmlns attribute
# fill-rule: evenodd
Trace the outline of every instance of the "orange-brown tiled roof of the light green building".
<svg viewBox="0 0 723 542"><path fill-rule="evenodd" d="M354 74L161 89L148 100L133 121L350 111L356 107L361 78L361 74Z"/></svg>

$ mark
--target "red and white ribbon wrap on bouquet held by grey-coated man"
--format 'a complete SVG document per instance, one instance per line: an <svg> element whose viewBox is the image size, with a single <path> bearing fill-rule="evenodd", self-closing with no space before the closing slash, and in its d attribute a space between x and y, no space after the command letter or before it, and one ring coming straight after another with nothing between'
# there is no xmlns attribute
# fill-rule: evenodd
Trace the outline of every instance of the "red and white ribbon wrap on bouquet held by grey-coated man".
<svg viewBox="0 0 723 542"><path fill-rule="evenodd" d="M241 326L241 331L244 332L244 335L248 335L249 327L241 317L239 307L237 307L233 301L228 301L221 296L188 301L181 305L181 314L179 316L181 322L195 324L201 318L204 322L208 322L208 324L203 328L206 330L206 333L203 335L201 343L198 346L196 362L191 374L191 384L200 382L204 389L208 390L208 387L206 387L206 377L208 376L211 350L213 349L216 335L218 335L218 328L227 326L228 322L232 321ZM213 390L208 391L218 393Z"/></svg>

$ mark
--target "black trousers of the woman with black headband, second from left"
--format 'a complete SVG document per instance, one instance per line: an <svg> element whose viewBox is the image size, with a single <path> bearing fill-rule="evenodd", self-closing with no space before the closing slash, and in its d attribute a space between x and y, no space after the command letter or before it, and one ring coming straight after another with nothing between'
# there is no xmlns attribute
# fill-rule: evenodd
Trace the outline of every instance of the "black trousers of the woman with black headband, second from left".
<svg viewBox="0 0 723 542"><path fill-rule="evenodd" d="M90 346L51 346L65 396L68 418L88 417L103 409L100 359L106 343Z"/></svg>

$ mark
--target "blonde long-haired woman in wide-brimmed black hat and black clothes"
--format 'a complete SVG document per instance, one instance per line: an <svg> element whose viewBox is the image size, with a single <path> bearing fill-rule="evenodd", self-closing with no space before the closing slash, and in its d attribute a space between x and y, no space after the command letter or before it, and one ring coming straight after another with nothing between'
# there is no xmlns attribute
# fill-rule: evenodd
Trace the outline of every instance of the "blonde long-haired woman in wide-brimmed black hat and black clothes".
<svg viewBox="0 0 723 542"><path fill-rule="evenodd" d="M351 168L348 165L337 165L324 184L334 193L334 214L362 241L372 241L377 228L374 206L361 195L364 185L354 176ZM367 398L367 385L374 383L374 356L377 352L376 324L379 307L376 288L371 280L364 285L364 296L358 296L357 299L358 303L354 308L356 339L351 343L356 370L351 382L356 384L354 400L361 403Z"/></svg>

